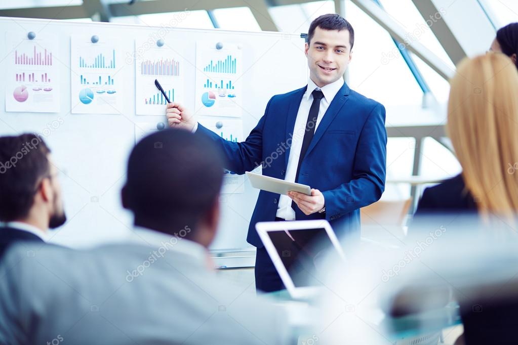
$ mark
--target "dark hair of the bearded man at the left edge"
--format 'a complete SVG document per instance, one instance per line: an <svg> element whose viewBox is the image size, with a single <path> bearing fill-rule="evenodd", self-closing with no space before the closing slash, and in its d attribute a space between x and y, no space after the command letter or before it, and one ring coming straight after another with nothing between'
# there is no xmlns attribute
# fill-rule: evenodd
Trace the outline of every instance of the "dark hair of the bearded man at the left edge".
<svg viewBox="0 0 518 345"><path fill-rule="evenodd" d="M0 221L28 215L41 179L50 172L49 153L36 134L0 137Z"/></svg>

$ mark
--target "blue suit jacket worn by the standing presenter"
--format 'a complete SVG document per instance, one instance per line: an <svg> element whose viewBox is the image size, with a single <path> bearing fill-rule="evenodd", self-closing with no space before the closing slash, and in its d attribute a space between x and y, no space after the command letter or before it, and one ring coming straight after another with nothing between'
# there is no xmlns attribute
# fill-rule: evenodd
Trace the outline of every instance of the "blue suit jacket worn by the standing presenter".
<svg viewBox="0 0 518 345"><path fill-rule="evenodd" d="M244 142L226 141L202 125L197 132L209 136L222 149L228 170L244 174L262 164L263 175L284 179L291 138L297 135L293 133L295 118L306 87L272 97ZM359 238L359 208L379 200L385 188L386 142L385 108L344 83L316 128L298 178L298 183L324 194L326 212L307 216L296 207L295 218L325 217L338 236ZM255 223L275 220L278 202L279 194L261 190L248 243L263 247Z"/></svg>

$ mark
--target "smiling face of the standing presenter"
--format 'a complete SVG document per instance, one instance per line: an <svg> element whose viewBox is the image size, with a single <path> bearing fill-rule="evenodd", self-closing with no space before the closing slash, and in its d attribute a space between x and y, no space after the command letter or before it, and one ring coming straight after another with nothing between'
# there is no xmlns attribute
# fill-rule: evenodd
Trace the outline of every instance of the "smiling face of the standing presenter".
<svg viewBox="0 0 518 345"><path fill-rule="evenodd" d="M349 31L316 27L305 53L311 80L319 87L333 83L342 78L351 61Z"/></svg>

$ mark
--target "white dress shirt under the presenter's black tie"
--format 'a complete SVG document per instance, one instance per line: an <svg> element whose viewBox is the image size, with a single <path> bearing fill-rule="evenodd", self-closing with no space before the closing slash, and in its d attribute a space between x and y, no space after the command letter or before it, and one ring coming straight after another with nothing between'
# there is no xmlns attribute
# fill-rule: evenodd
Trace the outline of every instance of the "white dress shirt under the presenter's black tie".
<svg viewBox="0 0 518 345"><path fill-rule="evenodd" d="M329 104L331 103L333 98L335 98L335 95L338 93L342 86L342 78L338 79L333 83L327 84L321 88L316 86L316 84L311 80L311 78L308 79L308 88L306 89L306 92L304 93L304 96L300 101L297 118L295 119L295 127L293 128L292 132L293 138L290 149L290 157L288 158L288 165L286 167L286 176L284 177L284 181L295 182L298 159L300 157L300 149L302 148L304 132L306 131L306 123L308 121L309 108L311 108L311 104L313 103L313 95L311 95L311 93L315 89L320 89L324 94L324 97L320 101L319 115L316 119L316 132L316 128L318 128L320 122L322 121L322 117L324 117L327 108L329 108ZM290 197L281 195L278 205L279 206L277 208L277 217L286 220L295 220L295 211L292 208L292 199Z"/></svg>

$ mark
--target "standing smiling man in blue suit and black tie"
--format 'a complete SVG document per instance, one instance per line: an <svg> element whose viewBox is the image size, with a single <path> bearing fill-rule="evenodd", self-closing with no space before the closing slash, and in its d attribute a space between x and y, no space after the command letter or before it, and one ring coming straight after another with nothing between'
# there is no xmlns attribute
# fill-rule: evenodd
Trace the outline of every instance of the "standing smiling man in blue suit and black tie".
<svg viewBox="0 0 518 345"><path fill-rule="evenodd" d="M344 83L353 44L354 30L338 14L315 19L305 47L308 84L272 97L244 142L222 139L198 124L181 104L167 106L169 125L210 137L225 153L228 170L244 174L262 164L263 175L312 187L311 196L261 190L247 236L257 247L257 290L284 287L255 231L256 222L326 219L338 237L354 242L359 239L359 208L383 193L385 108Z"/></svg>

